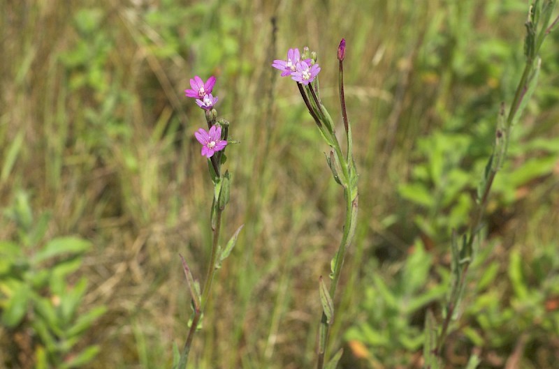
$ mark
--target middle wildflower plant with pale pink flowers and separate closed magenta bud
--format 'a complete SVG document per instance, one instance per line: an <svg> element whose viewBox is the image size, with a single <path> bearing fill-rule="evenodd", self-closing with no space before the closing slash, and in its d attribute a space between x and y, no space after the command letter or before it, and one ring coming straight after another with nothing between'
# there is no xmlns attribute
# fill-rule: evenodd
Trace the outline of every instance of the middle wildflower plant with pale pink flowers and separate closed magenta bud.
<svg viewBox="0 0 559 369"><path fill-rule="evenodd" d="M345 153L342 151L342 145L337 140L331 115L328 114L326 107L322 105L320 100L318 74L321 68L317 63L317 54L315 52L310 53L307 47L305 47L303 54L300 54L298 49L289 49L286 60L275 60L272 64L274 68L282 71L282 77L289 76L292 80L297 82L301 97L305 105L307 105L307 109L312 119L314 119L314 123L317 124L317 128L319 128L319 132L326 144L331 147L330 153L326 155L328 167L330 167L336 183L342 186L344 190L345 222L342 240L331 262L330 287L326 286L322 277L319 278L319 295L322 314L318 333L318 369L324 368L325 363L328 363L328 368L335 368L337 361L339 361L342 356L342 351L340 350L332 359L328 360L326 350L328 347L330 328L335 318L333 298L335 296L338 280L340 279L344 257L354 237L357 220L358 176L352 153L353 143L351 138L351 126L347 119L344 99L344 58L345 40L342 39L337 49L337 59L339 60L340 66L338 80L340 105L346 133Z"/></svg>

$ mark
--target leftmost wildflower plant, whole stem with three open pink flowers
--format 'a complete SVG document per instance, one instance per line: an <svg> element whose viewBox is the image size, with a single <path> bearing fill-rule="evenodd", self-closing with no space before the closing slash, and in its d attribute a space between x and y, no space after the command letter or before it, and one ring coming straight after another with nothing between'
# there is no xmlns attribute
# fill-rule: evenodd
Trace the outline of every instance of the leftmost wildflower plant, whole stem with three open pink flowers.
<svg viewBox="0 0 559 369"><path fill-rule="evenodd" d="M184 91L185 95L189 98L196 99L196 105L204 110L205 121L208 123L208 130L200 128L194 133L196 140L202 145L201 155L208 159L208 168L210 170L210 178L213 184L213 201L211 209L211 227L212 227L212 250L210 253L210 262L206 272L203 288L189 269L187 262L182 255L182 267L184 274L187 278L187 285L189 288L190 296L192 299L192 316L189 321L189 333L182 352L179 354L175 349L173 358L173 369L184 369L187 366L190 348L194 334L199 328L203 316L204 308L210 298L210 291L212 288L212 281L215 272L222 265L222 262L229 256L231 250L235 246L238 234L242 229L242 225L237 229L235 234L222 248L219 246L219 234L222 228L222 214L229 201L229 193L231 190L231 176L226 170L222 171L222 165L226 161L225 149L229 144L227 141L229 133L229 122L225 119L217 119L217 111L214 108L217 103L217 96L212 96L213 87L215 85L215 77L210 77L206 82L203 82L201 77L194 77L190 80L191 89Z"/></svg>

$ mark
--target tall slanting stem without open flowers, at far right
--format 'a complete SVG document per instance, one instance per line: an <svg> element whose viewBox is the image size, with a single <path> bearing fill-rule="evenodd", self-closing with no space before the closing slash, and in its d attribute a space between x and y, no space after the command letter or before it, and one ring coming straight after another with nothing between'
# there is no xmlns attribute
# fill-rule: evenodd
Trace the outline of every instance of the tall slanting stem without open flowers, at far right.
<svg viewBox="0 0 559 369"><path fill-rule="evenodd" d="M551 16L556 7L556 0L536 0L528 10L528 21L525 23L526 36L524 40L524 55L526 58L524 71L514 99L505 112L504 104L501 105L495 129L495 142L493 153L488 158L484 175L477 188L477 206L472 212L467 233L462 236L453 234L451 241L451 285L447 294L447 301L442 307L442 321L437 324L435 315L428 310L425 326L425 344L423 346L424 368L443 368L441 359L444 342L451 330L451 322L458 319L462 309L464 290L467 284L467 275L470 265L477 255L480 242L482 218L491 193L495 176L501 169L507 156L511 130L520 119L520 116L535 91L537 77L542 63L539 50L542 43L556 23L557 17L551 22ZM479 358L476 354L470 357L467 368L476 368Z"/></svg>

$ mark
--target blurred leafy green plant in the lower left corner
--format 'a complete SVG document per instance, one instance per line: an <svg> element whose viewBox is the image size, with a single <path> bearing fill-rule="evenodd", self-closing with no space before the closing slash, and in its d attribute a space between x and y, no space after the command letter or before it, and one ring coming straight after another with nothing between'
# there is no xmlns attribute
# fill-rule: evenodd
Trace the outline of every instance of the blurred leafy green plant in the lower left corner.
<svg viewBox="0 0 559 369"><path fill-rule="evenodd" d="M87 279L73 278L91 244L73 236L43 243L50 216L36 219L25 193L18 193L5 213L17 224L19 239L0 241L1 324L12 334L32 332L37 368L80 368L99 347L78 344L106 311L103 306L82 311Z"/></svg>

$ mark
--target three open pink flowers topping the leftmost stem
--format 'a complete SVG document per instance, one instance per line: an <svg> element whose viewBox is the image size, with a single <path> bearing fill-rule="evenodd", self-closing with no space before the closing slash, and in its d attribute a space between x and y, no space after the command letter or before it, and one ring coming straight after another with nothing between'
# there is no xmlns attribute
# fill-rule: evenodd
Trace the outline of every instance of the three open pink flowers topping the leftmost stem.
<svg viewBox="0 0 559 369"><path fill-rule="evenodd" d="M208 120L210 130L207 131L200 128L194 133L196 140L202 144L202 156L206 158L211 158L214 153L222 151L227 145L227 141L222 139L222 127L215 125L215 112L214 114L210 113L215 103L217 103L217 96L214 97L212 95L214 85L214 76L208 78L208 80L204 82L196 75L194 79L190 80L191 89L184 90L184 94L188 98L195 98L196 105L206 111L206 120ZM212 115L214 117L210 118Z"/></svg>

